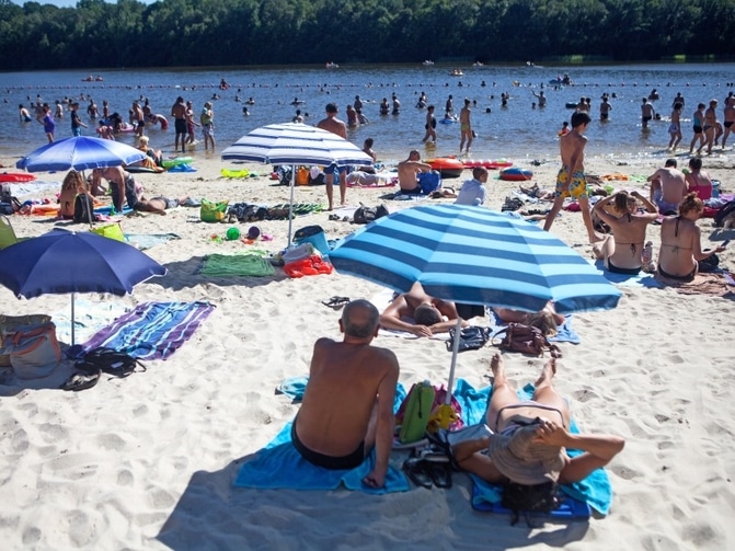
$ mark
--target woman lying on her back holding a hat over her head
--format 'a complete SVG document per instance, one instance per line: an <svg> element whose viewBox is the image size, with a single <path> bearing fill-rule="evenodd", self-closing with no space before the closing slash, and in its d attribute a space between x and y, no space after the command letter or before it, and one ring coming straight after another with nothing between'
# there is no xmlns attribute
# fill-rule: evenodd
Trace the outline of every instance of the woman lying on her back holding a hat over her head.
<svg viewBox="0 0 735 551"><path fill-rule="evenodd" d="M565 484L585 479L622 450L625 443L619 436L569 432L569 406L551 382L556 374L555 359L543 366L533 398L527 402L521 402L509 387L497 353L491 369L493 393L485 422L494 434L453 447L462 469L492 483ZM584 452L570 458L566 448Z"/></svg>

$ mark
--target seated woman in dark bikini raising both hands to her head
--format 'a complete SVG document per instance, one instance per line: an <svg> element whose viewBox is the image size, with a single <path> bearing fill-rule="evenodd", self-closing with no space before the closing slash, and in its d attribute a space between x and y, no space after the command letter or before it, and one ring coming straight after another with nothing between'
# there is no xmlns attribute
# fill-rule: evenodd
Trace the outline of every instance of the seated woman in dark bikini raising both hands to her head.
<svg viewBox="0 0 735 551"><path fill-rule="evenodd" d="M636 199L645 205L647 213L639 214ZM619 216L606 210L611 203ZM622 191L597 202L593 207L593 214L612 230L612 234L606 236L602 243L593 246L597 260L604 260L605 267L616 274L640 273L643 264L651 262L650 246L646 251L647 257L643 257L643 243L646 226L658 219L656 205L638 192Z"/></svg>

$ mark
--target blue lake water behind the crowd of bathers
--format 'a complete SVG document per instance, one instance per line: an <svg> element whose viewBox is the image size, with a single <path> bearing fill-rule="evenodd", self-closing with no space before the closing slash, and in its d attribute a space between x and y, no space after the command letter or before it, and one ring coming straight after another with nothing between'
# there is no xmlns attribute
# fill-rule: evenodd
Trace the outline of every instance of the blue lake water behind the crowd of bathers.
<svg viewBox="0 0 735 551"><path fill-rule="evenodd" d="M345 107L359 95L364 113L370 123L348 130L348 138L363 145L365 138L375 140L379 159L395 161L405 158L407 151L417 148L423 157L456 154L459 149L459 125L438 124L436 146L424 146L425 111L416 108L423 91L429 103L436 105L437 119L441 118L449 94L453 96L455 112L459 113L464 97L476 102L472 108L472 126L478 134L472 146L475 159L535 160L558 157L556 133L562 122L569 120L573 110L565 104L581 96L592 97L593 124L587 129L588 156L598 157L652 157L666 154L668 144L668 119L671 102L677 92L686 99L682 117L682 145L692 137L691 113L697 103L720 101L719 118L728 91L734 90L735 65L624 65L589 67L462 67L462 77L450 76L453 67L430 66L357 66L325 69L323 67L260 67L260 68L193 68L193 69L145 69L97 70L103 82L83 82L89 73L82 70L51 72L0 73L0 153L21 157L46 142L43 127L35 123L20 123L18 105L28 106L36 96L53 104L65 97L92 96L102 108L102 101L110 102L127 119L134 100L148 97L154 113L171 119L171 105L177 95L194 103L195 113L214 94L217 149L221 152L250 130L273 123L289 122L296 106L295 97L305 102L298 107L309 114L307 124L315 124L323 117L324 105L334 102L340 107L340 117L345 119ZM573 85L553 87L550 81L569 73ZM219 90L220 79L231 85ZM485 83L483 87L482 83ZM543 88L542 88L543 87ZM654 120L647 130L641 127L640 105L652 89L661 95L654 106L663 120ZM532 108L537 101L533 92L544 91L547 106ZM501 105L501 93L510 99L506 107ZM600 123L599 104L604 92L612 95L610 120ZM390 101L395 93L401 102L399 115L380 115L382 97ZM242 101L252 97L248 105L250 116L243 116ZM81 101L82 119L92 134L95 123L84 113L88 101ZM486 110L490 108L490 113ZM33 112L32 112L33 114ZM173 124L166 131L147 127L151 146L173 153ZM57 119L57 139L71 136L68 114ZM122 135L122 141L134 144L131 135ZM197 136L202 141L202 138ZM733 140L735 144L735 140ZM732 144L731 144L732 145ZM732 149L731 151L732 152ZM193 151L194 157L204 154L202 142Z"/></svg>

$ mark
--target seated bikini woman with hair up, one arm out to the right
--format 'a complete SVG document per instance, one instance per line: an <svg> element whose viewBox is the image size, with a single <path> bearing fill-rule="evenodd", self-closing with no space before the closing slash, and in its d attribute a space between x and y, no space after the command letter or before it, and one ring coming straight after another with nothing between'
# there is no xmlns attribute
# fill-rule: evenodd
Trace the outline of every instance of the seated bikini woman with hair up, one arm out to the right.
<svg viewBox="0 0 735 551"><path fill-rule="evenodd" d="M702 216L704 203L697 193L689 193L679 204L679 216L664 218L661 225L658 273L680 282L691 282L699 271L699 262L725 250L717 246L702 251L702 233L697 220Z"/></svg>

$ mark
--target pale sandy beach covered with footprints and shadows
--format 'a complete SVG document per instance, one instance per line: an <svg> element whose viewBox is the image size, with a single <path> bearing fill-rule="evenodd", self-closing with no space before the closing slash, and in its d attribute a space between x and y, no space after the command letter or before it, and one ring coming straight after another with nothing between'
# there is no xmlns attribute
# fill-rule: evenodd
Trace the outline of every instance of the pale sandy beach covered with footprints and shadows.
<svg viewBox="0 0 735 551"><path fill-rule="evenodd" d="M168 154L168 153L166 153ZM387 160L404 158L393 152ZM555 151L532 167L533 181L550 187ZM646 176L665 158L593 158L587 173ZM679 157L679 167L686 165ZM513 160L510 158L510 160ZM2 158L14 167L15 158ZM659 161L659 162L658 162ZM657 164L656 164L657 163ZM238 165L260 177L225 179L233 168L219 154L197 151L197 172L136 174L145 195L190 195L264 205L287 203L289 188L273 185L269 167ZM733 156L713 156L704 169L735 192ZM2 169L9 170L9 169ZM491 172L490 208L499 209L517 182ZM58 182L64 173L38 174ZM471 177L466 171L457 186ZM613 180L617 188L639 190L640 179ZM390 187L348 188L347 203L377 205ZM54 200L58 188L21 199ZM326 204L323 186L298 186L297 203ZM336 190L335 190L336 193ZM446 200L451 199L428 199ZM384 200L390 210L411 202ZM332 296L371 298L384 289L361 279L320 275L291 279L207 277L199 273L214 253L277 252L286 245L287 221L257 222L272 241L215 240L237 226L204 223L198 208L179 207L166 216L119 217L126 233L176 233L180 239L146 252L168 267L164 277L138 285L118 298L79 296L99 322L147 301L209 301L216 308L180 351L166 360L146 361L145 372L125 379L103 376L96 387L65 392L58 387L72 371L62 363L48 378L19 381L3 374L0 386L0 540L3 549L547 549L725 550L735 547L735 402L730 384L732 319L735 302L709 294L681 294L671 287L625 284L618 308L575 313L582 342L562 343L558 388L569 398L583 432L606 432L627 439L608 468L613 489L610 514L588 523L509 526L507 516L474 512L471 484L456 473L451 490L412 487L370 496L334 492L254 491L232 486L242 462L266 445L298 411L276 387L306 376L314 341L338 337L338 310L322 301ZM319 211L297 217L294 229L320 225L331 239L356 227ZM33 237L66 226L53 217L12 216L15 232ZM735 238L735 230L699 222L704 246ZM83 226L73 228L83 230ZM590 246L578 213L563 211L552 230L583 256ZM648 229L655 256L658 227ZM735 265L735 249L722 264ZM69 296L18 300L0 288L0 313L65 312ZM95 310L94 305L100 305ZM103 311L104 310L104 311ZM114 309L113 309L114 310ZM111 310L112 311L112 310ZM480 320L475 320L480 323ZM486 323L486 320L483 321ZM103 323L104 325L104 323ZM61 341L65 341L61 338ZM68 341L66 341L68 342ZM446 382L450 354L440 341L379 336L376 345L395 352L406 387L429 379ZM457 375L480 388L489 384L492 347L461 354ZM521 387L536 379L543 360L505 354L509 378ZM3 369L8 371L7 369ZM399 467L405 454L394 451ZM731 519L731 520L728 520Z"/></svg>

